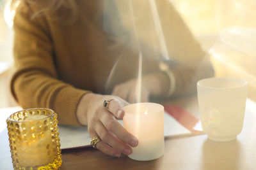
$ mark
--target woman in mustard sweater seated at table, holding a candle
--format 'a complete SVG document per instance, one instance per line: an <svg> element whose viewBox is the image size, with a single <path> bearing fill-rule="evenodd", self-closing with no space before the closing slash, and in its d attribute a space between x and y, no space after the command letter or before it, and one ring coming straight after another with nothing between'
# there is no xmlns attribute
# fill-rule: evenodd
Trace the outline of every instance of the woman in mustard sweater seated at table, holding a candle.
<svg viewBox="0 0 256 170"><path fill-rule="evenodd" d="M13 24L16 71L11 88L17 102L23 108L52 108L61 124L87 125L93 146L115 157L129 155L131 146L138 145L116 121L124 117L127 101L185 94L195 89L196 80L212 75L208 67L204 74L193 74L204 53L167 1L157 3L172 11L176 23L165 34L170 38L167 44L175 44L175 48L167 46L168 51L178 59L187 57L190 64L176 64L164 71L154 56L150 57L158 52L148 48L143 28L132 36L131 24L118 22L117 15L111 15L113 9L122 8L122 2L22 0ZM139 52L132 47L134 42ZM145 55L148 57L141 57ZM138 69L140 61L142 71ZM138 89L140 71L142 88Z"/></svg>

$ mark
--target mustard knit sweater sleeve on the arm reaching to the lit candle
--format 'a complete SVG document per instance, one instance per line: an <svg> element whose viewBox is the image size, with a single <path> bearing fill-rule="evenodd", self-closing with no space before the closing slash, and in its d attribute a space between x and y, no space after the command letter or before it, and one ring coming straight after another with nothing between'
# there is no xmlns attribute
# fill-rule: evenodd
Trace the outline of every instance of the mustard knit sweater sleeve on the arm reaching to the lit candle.
<svg viewBox="0 0 256 170"><path fill-rule="evenodd" d="M47 22L44 16L31 19L34 12L24 1L16 11L12 95L22 108L51 108L61 124L79 125L77 104L88 91L58 80Z"/></svg>

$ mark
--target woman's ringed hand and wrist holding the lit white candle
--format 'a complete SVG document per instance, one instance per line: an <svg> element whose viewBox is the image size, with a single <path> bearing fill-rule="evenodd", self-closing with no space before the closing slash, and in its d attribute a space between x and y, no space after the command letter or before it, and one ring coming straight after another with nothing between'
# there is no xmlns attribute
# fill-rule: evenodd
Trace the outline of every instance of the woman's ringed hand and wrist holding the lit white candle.
<svg viewBox="0 0 256 170"><path fill-rule="evenodd" d="M105 100L114 99L109 103L108 109L104 108ZM131 146L138 145L138 139L127 132L116 118L124 117L124 106L128 103L116 96L102 96L86 94L77 106L77 118L82 125L88 125L88 132L93 138L98 136L101 140L96 144L97 149L120 157L121 153L131 154Z"/></svg>

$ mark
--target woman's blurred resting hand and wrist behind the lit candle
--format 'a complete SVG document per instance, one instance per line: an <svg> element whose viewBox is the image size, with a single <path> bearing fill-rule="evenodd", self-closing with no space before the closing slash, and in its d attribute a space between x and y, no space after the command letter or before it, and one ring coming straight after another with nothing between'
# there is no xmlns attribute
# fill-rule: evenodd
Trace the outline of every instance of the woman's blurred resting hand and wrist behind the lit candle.
<svg viewBox="0 0 256 170"><path fill-rule="evenodd" d="M141 78L126 81L116 85L112 94L128 101L129 103L147 102L148 97L164 96L168 91L168 76L164 73L152 73Z"/></svg>

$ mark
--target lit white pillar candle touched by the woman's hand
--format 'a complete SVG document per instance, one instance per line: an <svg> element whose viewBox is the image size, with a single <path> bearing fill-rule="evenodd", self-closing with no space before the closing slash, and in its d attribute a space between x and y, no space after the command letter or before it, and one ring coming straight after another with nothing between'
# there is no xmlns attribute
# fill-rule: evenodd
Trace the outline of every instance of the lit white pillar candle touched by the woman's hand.
<svg viewBox="0 0 256 170"><path fill-rule="evenodd" d="M164 154L164 107L156 103L125 106L124 128L139 143L128 155L134 160L153 160Z"/></svg>

